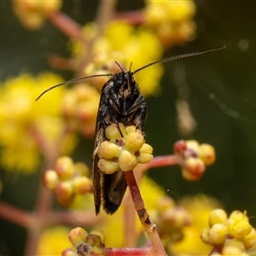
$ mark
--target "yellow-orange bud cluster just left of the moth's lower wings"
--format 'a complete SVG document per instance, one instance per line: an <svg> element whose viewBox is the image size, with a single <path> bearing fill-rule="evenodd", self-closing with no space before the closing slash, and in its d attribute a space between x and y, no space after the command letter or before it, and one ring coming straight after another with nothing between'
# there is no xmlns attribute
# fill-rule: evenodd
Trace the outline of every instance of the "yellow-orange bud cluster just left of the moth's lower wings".
<svg viewBox="0 0 256 256"><path fill-rule="evenodd" d="M57 201L63 207L70 207L76 195L84 195L92 191L89 168L83 163L73 163L70 157L57 160L55 170L44 172L44 185L53 189Z"/></svg>

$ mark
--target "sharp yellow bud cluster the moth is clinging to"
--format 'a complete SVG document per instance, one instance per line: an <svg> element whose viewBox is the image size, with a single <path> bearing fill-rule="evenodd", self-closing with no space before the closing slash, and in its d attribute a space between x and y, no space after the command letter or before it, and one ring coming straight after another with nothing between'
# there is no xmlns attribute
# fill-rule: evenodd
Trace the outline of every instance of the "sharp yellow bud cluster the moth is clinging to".
<svg viewBox="0 0 256 256"><path fill-rule="evenodd" d="M106 137L109 140L102 142L97 150L98 167L106 174L131 171L138 163L146 164L153 159L153 148L145 143L142 132L134 125L109 125Z"/></svg>

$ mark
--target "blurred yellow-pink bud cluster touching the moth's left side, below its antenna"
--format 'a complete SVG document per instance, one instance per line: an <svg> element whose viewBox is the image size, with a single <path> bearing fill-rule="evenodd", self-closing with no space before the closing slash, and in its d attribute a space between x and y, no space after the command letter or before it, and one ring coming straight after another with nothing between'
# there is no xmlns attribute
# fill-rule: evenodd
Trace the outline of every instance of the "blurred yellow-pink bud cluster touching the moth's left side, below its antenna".
<svg viewBox="0 0 256 256"><path fill-rule="evenodd" d="M76 84L67 90L61 112L69 129L93 137L99 101L98 91L88 84Z"/></svg>

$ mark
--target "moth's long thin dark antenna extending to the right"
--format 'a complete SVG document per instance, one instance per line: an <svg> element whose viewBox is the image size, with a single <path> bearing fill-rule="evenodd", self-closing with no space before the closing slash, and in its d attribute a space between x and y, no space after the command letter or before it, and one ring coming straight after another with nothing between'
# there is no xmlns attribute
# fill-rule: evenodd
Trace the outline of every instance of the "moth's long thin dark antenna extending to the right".
<svg viewBox="0 0 256 256"><path fill-rule="evenodd" d="M211 52L211 51L215 51L215 50L219 50L219 49L224 49L224 48L226 48L226 45L218 46L218 47L215 47L215 48L212 48L212 49L205 49L205 50L201 50L201 51L195 51L195 52L191 52L191 53L188 53L188 54L175 55L175 56L167 57L167 58L162 59L160 61L154 61L154 62L151 62L151 63L149 63L148 65L146 65L144 67L138 68L136 71L134 71L132 73L132 75L134 75L135 73L138 73L139 71L143 70L144 68L150 67L154 64L166 63L166 62L169 62L169 61L175 61L175 60L188 58L188 57L192 57L192 56L196 56L196 55L203 55L203 54L206 54L207 52Z"/></svg>

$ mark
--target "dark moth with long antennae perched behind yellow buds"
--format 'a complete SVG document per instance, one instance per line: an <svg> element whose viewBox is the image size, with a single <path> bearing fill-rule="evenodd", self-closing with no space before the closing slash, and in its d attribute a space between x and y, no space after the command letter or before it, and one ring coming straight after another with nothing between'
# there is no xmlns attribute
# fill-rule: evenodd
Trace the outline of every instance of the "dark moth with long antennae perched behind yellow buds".
<svg viewBox="0 0 256 256"><path fill-rule="evenodd" d="M124 173L119 170L113 174L105 174L99 170L97 163L99 157L97 150L99 145L107 140L105 130L108 125L116 124L119 128L119 123L123 125L135 125L137 129L144 133L144 125L147 119L147 104L144 96L140 93L139 85L134 76L143 69L158 63L166 63L195 55L202 55L218 49L224 49L225 46L220 46L213 49L197 51L189 54L175 55L167 57L160 61L154 61L146 66L140 67L135 71L124 71L119 66L120 71L117 73L97 74L77 79L71 79L61 84L56 84L38 96L36 101L49 90L64 84L73 84L79 80L91 79L95 77L108 76L111 77L102 87L99 108L96 118L95 145L92 155L92 180L94 189L94 201L96 215L100 212L101 205L108 214L113 214L119 208L121 201L125 195L127 183ZM123 137L120 131L120 136Z"/></svg>

